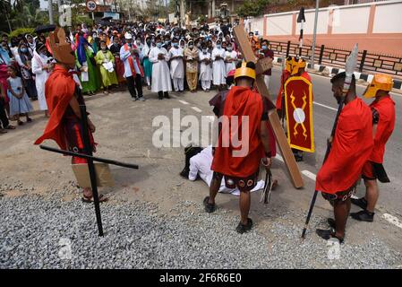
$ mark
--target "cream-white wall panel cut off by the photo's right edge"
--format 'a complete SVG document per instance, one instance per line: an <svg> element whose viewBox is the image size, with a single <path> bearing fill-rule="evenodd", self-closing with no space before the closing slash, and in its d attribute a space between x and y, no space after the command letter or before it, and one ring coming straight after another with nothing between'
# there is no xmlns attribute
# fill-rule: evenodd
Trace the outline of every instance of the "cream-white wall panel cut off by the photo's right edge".
<svg viewBox="0 0 402 287"><path fill-rule="evenodd" d="M402 3L377 4L375 7L373 33L402 32Z"/></svg>

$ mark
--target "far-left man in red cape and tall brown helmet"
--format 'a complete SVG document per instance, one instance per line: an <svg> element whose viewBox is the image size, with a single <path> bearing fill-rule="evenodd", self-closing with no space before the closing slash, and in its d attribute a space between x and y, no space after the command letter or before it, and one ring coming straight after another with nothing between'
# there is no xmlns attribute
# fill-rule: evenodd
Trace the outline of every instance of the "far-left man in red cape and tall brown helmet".
<svg viewBox="0 0 402 287"><path fill-rule="evenodd" d="M75 66L75 58L71 45L65 41L63 29L56 29L49 36L49 44L52 49L53 57L56 59L56 66L52 74L47 79L45 86L45 96L47 108L50 114L49 121L42 136L36 140L35 144L42 143L44 140L54 140L60 149L72 152L86 153L81 138L81 110L80 105L85 105L81 91L73 80L70 69ZM92 134L95 126L88 119L90 128L90 142L93 149L95 143ZM72 163L86 163L87 161L78 157L73 157ZM84 188L82 199L86 202L92 200L92 190ZM106 200L99 196L100 201Z"/></svg>

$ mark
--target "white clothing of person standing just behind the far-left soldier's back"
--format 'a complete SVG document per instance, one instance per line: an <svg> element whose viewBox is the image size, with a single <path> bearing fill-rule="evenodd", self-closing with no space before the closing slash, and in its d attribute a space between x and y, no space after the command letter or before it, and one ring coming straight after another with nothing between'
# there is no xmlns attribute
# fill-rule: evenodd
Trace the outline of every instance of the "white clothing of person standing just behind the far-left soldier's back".
<svg viewBox="0 0 402 287"><path fill-rule="evenodd" d="M32 57L32 73L35 74L35 85L38 91L39 109L47 110L47 102L45 97L45 83L50 73L46 70L42 70L44 65L48 65L47 61L51 60L51 57L45 55L39 55L36 51L33 52Z"/></svg>

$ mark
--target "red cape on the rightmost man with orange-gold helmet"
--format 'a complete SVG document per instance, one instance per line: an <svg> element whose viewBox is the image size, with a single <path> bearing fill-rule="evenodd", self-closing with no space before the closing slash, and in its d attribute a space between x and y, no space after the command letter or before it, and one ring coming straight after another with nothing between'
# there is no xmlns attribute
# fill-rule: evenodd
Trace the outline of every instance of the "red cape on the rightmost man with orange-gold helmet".
<svg viewBox="0 0 402 287"><path fill-rule="evenodd" d="M395 102L388 95L384 99L374 100L370 108L376 109L380 114L370 161L382 163L384 161L385 143L387 143L395 127Z"/></svg>

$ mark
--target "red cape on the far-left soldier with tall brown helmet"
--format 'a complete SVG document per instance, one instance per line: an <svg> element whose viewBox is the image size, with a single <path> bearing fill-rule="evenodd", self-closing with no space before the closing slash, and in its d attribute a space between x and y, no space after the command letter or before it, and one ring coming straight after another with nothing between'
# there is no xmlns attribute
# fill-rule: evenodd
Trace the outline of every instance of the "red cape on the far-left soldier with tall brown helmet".
<svg viewBox="0 0 402 287"><path fill-rule="evenodd" d="M65 109L67 109L70 100L74 96L74 91L73 74L69 74L61 65L56 65L45 84L45 97L50 118L43 135L36 140L35 144L52 139L56 141L60 149L67 149L64 128L61 126L61 122Z"/></svg>

